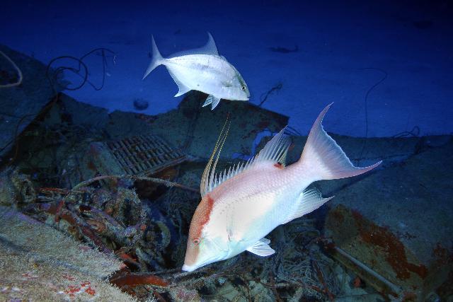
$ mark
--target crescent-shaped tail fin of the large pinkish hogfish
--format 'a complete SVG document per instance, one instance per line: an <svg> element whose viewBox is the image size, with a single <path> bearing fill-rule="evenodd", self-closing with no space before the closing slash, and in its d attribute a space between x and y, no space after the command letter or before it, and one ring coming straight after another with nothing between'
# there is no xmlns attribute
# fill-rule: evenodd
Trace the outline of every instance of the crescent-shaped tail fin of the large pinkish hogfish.
<svg viewBox="0 0 453 302"><path fill-rule="evenodd" d="M309 173L313 177L313 181L350 178L368 172L382 163L379 161L364 168L352 165L336 141L323 129L323 117L332 104L324 108L311 127L298 163L301 168L304 168L305 173Z"/></svg>

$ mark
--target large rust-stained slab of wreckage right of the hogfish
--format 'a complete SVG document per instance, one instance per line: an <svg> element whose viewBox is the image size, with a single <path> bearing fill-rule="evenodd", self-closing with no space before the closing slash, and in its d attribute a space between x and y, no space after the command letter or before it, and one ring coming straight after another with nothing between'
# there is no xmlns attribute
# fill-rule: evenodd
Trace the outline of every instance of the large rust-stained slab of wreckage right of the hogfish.
<svg viewBox="0 0 453 302"><path fill-rule="evenodd" d="M338 190L326 218L326 236L336 247L395 285L382 291L422 300L447 286L453 272L453 139L433 140L444 145L426 146Z"/></svg>

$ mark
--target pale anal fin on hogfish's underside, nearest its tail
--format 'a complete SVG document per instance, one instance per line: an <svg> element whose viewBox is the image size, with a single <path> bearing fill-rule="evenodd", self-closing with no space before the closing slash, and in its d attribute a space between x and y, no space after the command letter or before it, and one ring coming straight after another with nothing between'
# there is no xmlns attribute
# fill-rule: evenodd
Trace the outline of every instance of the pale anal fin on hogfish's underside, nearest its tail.
<svg viewBox="0 0 453 302"><path fill-rule="evenodd" d="M321 196L321 192L319 190L313 188L313 189L306 189L304 192L302 192L299 195L299 198L297 199L294 211L289 214L287 219L282 222L282 224L285 224L289 221L292 221L294 219L297 219L299 217L304 216L305 214L309 214L312 211L318 209L321 207L323 204L331 200L332 197L328 198L323 198Z"/></svg>

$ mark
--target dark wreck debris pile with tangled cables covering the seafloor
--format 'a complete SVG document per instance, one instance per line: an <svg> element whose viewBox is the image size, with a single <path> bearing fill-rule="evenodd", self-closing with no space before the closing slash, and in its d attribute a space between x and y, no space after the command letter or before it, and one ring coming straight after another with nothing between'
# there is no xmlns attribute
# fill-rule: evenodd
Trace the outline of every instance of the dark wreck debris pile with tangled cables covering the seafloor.
<svg viewBox="0 0 453 302"><path fill-rule="evenodd" d="M451 188L448 191L442 181L447 173L427 168L430 158L440 158L440 165L451 154L451 137L368 139L362 152L363 139L334 135L352 161L366 165L383 159L383 168L355 180L316 183L324 195L336 198L329 207L270 233L276 251L272 257L241 253L195 272L181 272L190 219L200 202L201 175L229 112L234 115L229 115L231 129L219 169L253 156L288 118L228 100L212 112L202 108L206 95L197 92L188 93L176 110L162 115L109 114L64 93L52 93L42 79L45 67L32 74L23 66L38 63L6 52L23 71L23 81L0 88L1 96L9 95L3 98L0 123L1 117L10 115L16 121L13 127L1 124L0 132L0 144L5 146L0 153L0 271L10 272L0 274L2 298L415 301L422 296L452 296L447 239L436 237L438 245L430 242L435 257L423 258L430 255L422 245L423 229L415 232L413 224L411 230L398 231L389 221L379 220L401 214L401 208L391 207L421 208L423 201L431 200L425 194L435 189L415 178L418 168L451 196ZM41 83L44 94L36 93L42 102L28 110L32 107L27 102L35 98L23 93L33 90L32 83ZM3 112L13 103L27 110ZM289 163L299 158L306 137L291 139ZM451 165L442 163L445 170ZM436 178L439 173L443 177ZM411 185L404 194L396 194L409 176ZM423 196L417 200L415 193L409 194L414 183L420 186L416 193ZM405 196L415 203L404 203ZM438 202L447 200L445 196L432 198ZM451 220L451 205L440 207L444 218ZM373 216L373 211L378 214ZM425 213L419 208L413 212ZM431 221L438 217L435 211L428 213ZM409 226L410 217L403 215L400 222ZM445 221L438 220L437 227L444 228L436 229L439 236L450 231L442 224ZM409 266L401 270L405 263ZM423 276L414 280L418 273Z"/></svg>

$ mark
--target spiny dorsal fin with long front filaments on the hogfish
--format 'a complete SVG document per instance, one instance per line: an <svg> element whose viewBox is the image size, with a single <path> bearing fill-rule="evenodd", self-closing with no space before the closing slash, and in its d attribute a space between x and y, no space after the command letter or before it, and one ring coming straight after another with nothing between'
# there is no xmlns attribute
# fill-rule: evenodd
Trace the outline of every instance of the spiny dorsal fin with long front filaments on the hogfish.
<svg viewBox="0 0 453 302"><path fill-rule="evenodd" d="M257 156L249 159L246 162L237 163L236 165L230 167L228 170L225 169L221 173L215 175L215 166L217 165L217 161L219 160L219 153L222 150L226 135L228 134L229 126L226 129L226 133L224 133L224 128L220 133L219 139L217 139L217 144L214 147L214 151L212 151L210 161L207 162L205 172L202 176L200 185L202 196L204 196L204 194L206 194L207 192L212 191L214 187L217 187L225 180L229 180L235 175L242 173L244 170L247 170L248 168L251 168L253 167L253 165L256 165L258 163L265 161L268 163L280 163L281 167L285 167L288 148L291 144L291 140L284 133L286 127L278 132L278 134L275 135L275 137L273 137L270 141L268 141L268 143L264 146L260 153L258 153ZM214 163L214 167L211 170L210 168L214 158L214 153L216 153L217 151L217 158Z"/></svg>

